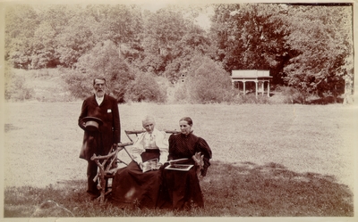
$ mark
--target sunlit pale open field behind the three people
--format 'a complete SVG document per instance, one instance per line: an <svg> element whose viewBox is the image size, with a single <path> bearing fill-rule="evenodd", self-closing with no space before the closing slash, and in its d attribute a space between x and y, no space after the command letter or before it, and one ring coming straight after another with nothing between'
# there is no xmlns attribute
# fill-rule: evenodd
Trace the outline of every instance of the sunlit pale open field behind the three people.
<svg viewBox="0 0 358 222"><path fill-rule="evenodd" d="M123 130L141 129L144 114L154 115L159 129L178 129L178 119L192 117L194 134L205 138L213 152L213 165L208 178L202 181L206 183L203 194L204 197L207 194L207 202L215 202L209 200L210 193L215 193L216 187L212 186L215 178L232 177L232 169L241 170L236 176L245 175L248 169L261 170L260 175L274 172L272 169L285 169L296 179L317 176L335 183L330 185L346 186L353 192L358 126L357 110L353 107L132 103L120 104L119 109ZM77 126L81 103L5 103L4 110L5 188L43 189L48 185L82 181L83 187L79 188L84 191L87 163L78 158L83 134ZM122 136L122 142L129 141L124 133ZM222 171L217 171L216 166ZM244 186L239 177L232 181L232 185L235 183ZM243 201L250 203L250 200ZM234 216L254 215L241 213ZM308 215L325 216L325 213L313 209ZM352 216L351 213L333 215ZM225 214L224 211L217 216ZM272 215L307 216L287 210ZM259 216L265 215L259 213Z"/></svg>

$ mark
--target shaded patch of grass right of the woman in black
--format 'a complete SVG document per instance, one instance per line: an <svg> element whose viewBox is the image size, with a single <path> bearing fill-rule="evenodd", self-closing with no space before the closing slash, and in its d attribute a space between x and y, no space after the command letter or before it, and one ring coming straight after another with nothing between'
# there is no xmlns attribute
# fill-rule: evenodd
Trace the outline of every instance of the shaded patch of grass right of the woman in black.
<svg viewBox="0 0 358 222"><path fill-rule="evenodd" d="M276 163L214 162L201 185L206 210L242 217L353 217L353 193L334 177ZM211 209L211 210L210 210Z"/></svg>

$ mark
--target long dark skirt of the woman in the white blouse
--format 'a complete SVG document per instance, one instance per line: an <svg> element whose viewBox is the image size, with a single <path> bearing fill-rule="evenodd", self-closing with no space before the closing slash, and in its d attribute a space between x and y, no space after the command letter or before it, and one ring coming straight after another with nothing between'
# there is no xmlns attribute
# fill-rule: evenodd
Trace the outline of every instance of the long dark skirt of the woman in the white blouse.
<svg viewBox="0 0 358 222"><path fill-rule="evenodd" d="M159 151L142 152L143 161L159 158ZM112 183L112 196L118 205L135 204L141 208L155 208L161 185L162 170L141 171L132 161L124 169L118 169Z"/></svg>

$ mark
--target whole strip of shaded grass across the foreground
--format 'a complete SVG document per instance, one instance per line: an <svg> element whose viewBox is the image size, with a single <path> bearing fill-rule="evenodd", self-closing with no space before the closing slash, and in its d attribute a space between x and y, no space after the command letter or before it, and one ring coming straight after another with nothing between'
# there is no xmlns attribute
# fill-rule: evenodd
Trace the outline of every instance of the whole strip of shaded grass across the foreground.
<svg viewBox="0 0 358 222"><path fill-rule="evenodd" d="M295 173L284 166L212 161L200 181L205 208L187 211L118 209L99 205L86 180L6 187L5 218L40 217L353 217L353 193L334 177Z"/></svg>

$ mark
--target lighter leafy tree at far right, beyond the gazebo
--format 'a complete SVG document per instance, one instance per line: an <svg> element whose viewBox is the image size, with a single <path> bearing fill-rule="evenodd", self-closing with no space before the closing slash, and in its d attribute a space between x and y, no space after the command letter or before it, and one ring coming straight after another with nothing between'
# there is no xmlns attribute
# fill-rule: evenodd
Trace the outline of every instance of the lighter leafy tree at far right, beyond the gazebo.
<svg viewBox="0 0 358 222"><path fill-rule="evenodd" d="M353 67L352 9L328 6L295 6L289 16L287 44L296 52L284 71L289 86L306 93L345 91L345 75ZM347 69L348 68L348 69Z"/></svg>

